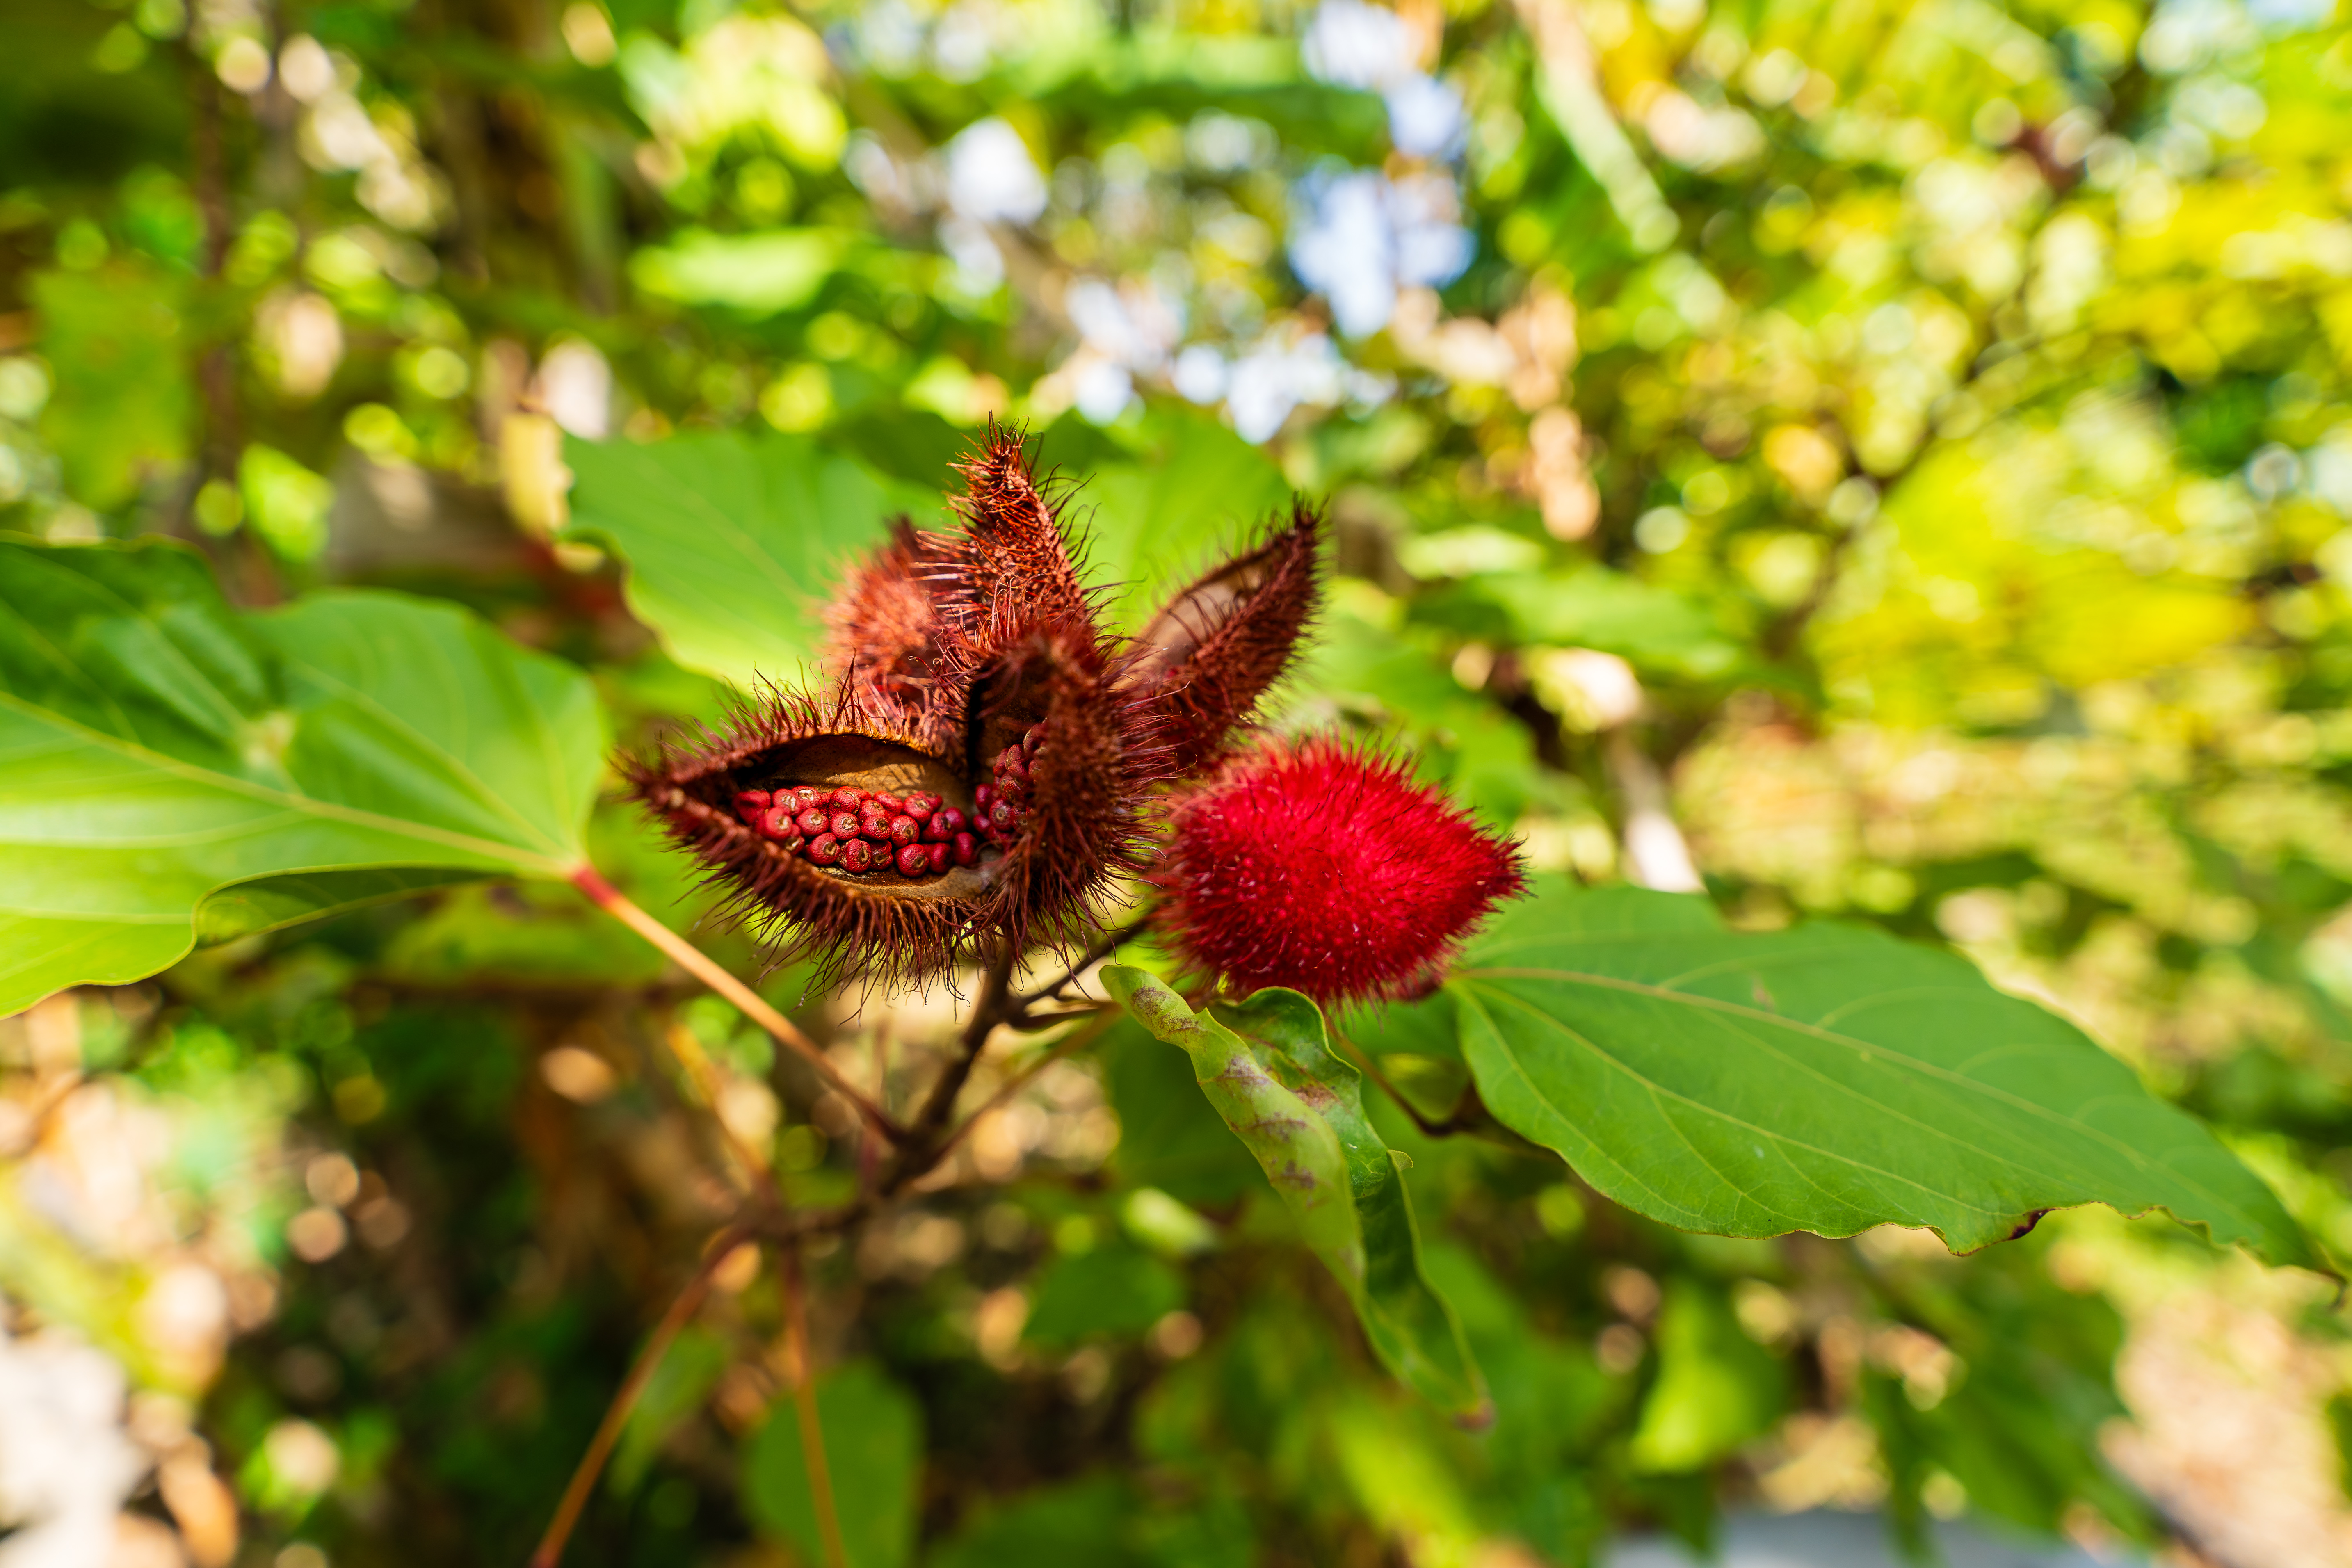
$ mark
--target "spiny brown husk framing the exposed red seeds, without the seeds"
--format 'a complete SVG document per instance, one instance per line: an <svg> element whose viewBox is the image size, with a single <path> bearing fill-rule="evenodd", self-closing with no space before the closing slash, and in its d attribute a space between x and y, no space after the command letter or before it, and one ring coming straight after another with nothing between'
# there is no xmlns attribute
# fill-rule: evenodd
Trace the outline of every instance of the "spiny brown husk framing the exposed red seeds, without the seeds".
<svg viewBox="0 0 2352 1568"><path fill-rule="evenodd" d="M708 867L710 886L727 891L724 912L755 926L776 961L811 957L826 980L927 980L967 961L990 926L985 863L941 877L854 875L788 856L736 818L736 790L804 783L931 790L971 811L955 762L861 705L849 686L826 701L769 691L722 731L666 743L652 757L623 757L621 766L670 842Z"/></svg>

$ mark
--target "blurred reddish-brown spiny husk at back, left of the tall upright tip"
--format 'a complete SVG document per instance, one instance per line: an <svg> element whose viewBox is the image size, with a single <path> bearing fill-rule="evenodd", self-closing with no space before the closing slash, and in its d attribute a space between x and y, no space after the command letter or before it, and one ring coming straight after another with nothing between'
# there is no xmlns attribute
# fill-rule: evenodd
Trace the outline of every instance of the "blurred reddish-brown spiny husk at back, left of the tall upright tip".
<svg viewBox="0 0 2352 1568"><path fill-rule="evenodd" d="M962 682L941 649L941 564L938 541L898 517L826 611L826 670L924 745L946 743L962 717Z"/></svg>

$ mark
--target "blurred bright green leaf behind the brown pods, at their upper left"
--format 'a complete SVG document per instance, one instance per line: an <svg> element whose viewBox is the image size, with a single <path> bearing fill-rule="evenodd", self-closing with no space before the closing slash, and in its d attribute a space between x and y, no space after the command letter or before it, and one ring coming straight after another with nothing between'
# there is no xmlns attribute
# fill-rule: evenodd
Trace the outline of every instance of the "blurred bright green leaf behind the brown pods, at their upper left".
<svg viewBox="0 0 2352 1568"><path fill-rule="evenodd" d="M572 522L628 559L628 609L677 663L736 686L814 658L823 602L889 520L938 496L797 435L564 442Z"/></svg>

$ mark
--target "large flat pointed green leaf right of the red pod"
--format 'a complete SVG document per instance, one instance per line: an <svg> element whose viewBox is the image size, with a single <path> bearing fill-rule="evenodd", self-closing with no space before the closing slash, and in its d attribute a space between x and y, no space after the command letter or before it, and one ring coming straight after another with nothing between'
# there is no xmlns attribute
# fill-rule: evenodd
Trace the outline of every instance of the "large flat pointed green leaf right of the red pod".
<svg viewBox="0 0 2352 1568"><path fill-rule="evenodd" d="M2324 1267L2270 1187L2082 1030L1879 931L1733 933L1703 898L1550 879L1446 990L1486 1107L1668 1225L1924 1225L1971 1251L2110 1204Z"/></svg>

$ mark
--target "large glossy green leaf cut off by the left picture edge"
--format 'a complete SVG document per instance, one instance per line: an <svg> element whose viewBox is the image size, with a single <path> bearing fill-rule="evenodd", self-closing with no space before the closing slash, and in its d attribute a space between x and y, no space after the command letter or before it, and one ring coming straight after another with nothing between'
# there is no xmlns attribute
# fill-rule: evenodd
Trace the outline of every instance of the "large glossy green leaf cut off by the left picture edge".
<svg viewBox="0 0 2352 1568"><path fill-rule="evenodd" d="M162 541L0 541L0 1013L207 936L579 867L595 691L473 616L336 592L240 616Z"/></svg>

